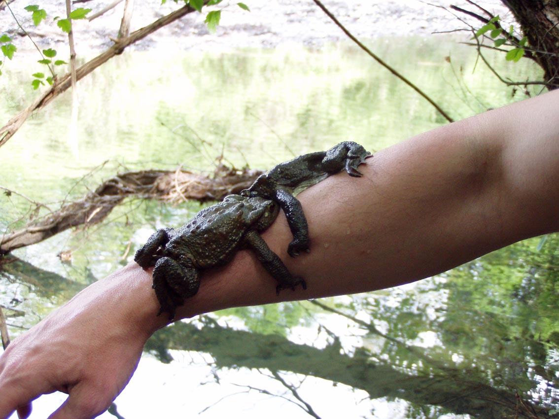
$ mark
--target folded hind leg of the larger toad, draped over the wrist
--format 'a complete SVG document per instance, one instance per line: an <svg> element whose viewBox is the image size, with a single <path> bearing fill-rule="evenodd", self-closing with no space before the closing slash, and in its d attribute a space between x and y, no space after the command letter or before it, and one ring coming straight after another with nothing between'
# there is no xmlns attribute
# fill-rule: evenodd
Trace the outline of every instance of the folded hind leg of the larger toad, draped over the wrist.
<svg viewBox="0 0 559 419"><path fill-rule="evenodd" d="M160 258L153 270L151 287L159 301L157 315L167 312L169 320L173 320L177 306L182 306L185 298L198 292L200 277L198 270L193 267L182 266L171 258Z"/></svg>

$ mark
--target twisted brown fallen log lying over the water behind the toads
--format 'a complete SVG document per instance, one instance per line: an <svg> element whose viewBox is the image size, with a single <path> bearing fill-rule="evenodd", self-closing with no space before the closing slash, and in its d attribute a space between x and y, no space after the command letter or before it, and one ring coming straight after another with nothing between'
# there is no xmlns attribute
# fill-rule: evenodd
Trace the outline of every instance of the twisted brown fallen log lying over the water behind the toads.
<svg viewBox="0 0 559 419"><path fill-rule="evenodd" d="M262 173L260 170L236 170L224 165L218 166L211 178L186 170L120 173L103 182L84 198L63 204L57 211L30 221L20 230L1 236L0 254L46 240L68 228L87 228L99 223L128 197L162 199L172 203L189 199L201 202L220 201L228 194L248 188Z"/></svg>

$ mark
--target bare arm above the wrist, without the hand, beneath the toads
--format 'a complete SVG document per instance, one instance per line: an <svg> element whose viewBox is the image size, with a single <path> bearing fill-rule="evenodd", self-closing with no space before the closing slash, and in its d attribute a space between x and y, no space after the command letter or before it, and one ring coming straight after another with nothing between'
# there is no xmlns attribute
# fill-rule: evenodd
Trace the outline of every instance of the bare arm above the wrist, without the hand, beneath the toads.
<svg viewBox="0 0 559 419"><path fill-rule="evenodd" d="M307 189L310 253L287 255L284 217L263 235L306 291L276 296L243 251L203 275L179 316L393 287L557 230L558 103L554 92L421 134L376 153L361 179Z"/></svg>

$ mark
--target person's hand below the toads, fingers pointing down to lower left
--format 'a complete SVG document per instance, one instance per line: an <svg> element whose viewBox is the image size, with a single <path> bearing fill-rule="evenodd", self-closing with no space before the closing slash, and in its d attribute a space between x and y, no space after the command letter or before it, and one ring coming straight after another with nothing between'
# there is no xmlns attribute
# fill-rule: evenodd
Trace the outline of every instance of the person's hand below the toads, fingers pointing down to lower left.
<svg viewBox="0 0 559 419"><path fill-rule="evenodd" d="M0 418L14 410L26 418L32 400L55 391L69 397L52 419L104 412L129 382L145 341L161 325L154 324L162 319L155 317L158 305L150 284L148 273L129 265L13 340L0 356Z"/></svg>

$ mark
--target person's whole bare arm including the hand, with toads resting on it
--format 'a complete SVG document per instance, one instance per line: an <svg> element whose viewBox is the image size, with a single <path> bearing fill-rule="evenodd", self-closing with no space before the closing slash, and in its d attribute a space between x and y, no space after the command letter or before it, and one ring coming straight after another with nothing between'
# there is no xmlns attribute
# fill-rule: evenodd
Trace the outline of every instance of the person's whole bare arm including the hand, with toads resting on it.
<svg viewBox="0 0 559 419"><path fill-rule="evenodd" d="M249 251L203 274L177 319L221 308L393 287L527 237L559 231L559 91L418 135L301 193L311 252L287 255L285 217L264 232L306 291L283 291ZM132 263L84 289L0 357L0 419L41 394L51 418L91 418L134 373L155 316L151 274Z"/></svg>

